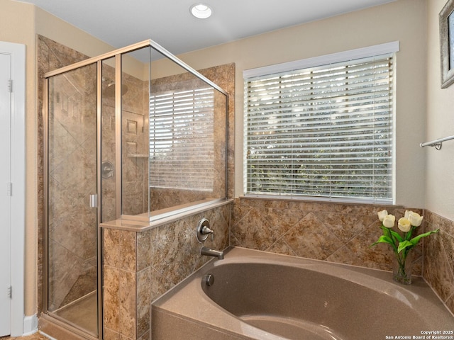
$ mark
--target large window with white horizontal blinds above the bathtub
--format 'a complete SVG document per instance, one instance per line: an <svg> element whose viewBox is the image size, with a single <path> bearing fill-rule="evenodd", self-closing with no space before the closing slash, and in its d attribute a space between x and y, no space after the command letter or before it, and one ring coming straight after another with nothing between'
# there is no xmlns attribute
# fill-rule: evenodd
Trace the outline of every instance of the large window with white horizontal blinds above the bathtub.
<svg viewBox="0 0 454 340"><path fill-rule="evenodd" d="M398 46L245 71L245 195L392 203Z"/></svg>

